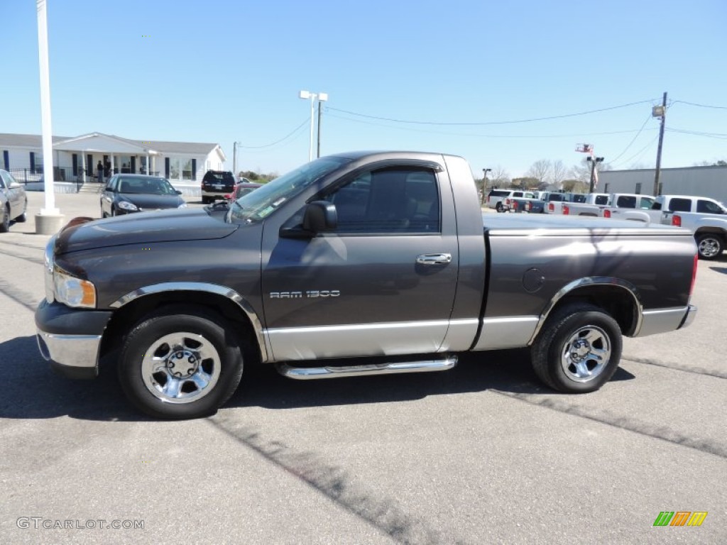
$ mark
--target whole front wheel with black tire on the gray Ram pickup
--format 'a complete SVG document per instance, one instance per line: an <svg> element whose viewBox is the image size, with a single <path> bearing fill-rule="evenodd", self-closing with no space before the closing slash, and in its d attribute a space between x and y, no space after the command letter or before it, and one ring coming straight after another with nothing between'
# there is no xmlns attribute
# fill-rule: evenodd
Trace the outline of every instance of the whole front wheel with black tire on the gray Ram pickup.
<svg viewBox="0 0 727 545"><path fill-rule="evenodd" d="M143 318L126 336L119 381L140 411L193 419L215 413L233 395L242 368L241 347L225 320L204 307L174 305Z"/></svg>

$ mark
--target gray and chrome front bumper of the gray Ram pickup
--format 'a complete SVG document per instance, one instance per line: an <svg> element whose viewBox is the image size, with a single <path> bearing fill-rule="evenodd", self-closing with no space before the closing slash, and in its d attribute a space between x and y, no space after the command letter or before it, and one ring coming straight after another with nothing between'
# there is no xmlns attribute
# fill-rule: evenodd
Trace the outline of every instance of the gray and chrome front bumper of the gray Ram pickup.
<svg viewBox="0 0 727 545"><path fill-rule="evenodd" d="M36 309L38 348L60 374L92 379L98 374L103 331L112 311L81 310L45 299Z"/></svg>

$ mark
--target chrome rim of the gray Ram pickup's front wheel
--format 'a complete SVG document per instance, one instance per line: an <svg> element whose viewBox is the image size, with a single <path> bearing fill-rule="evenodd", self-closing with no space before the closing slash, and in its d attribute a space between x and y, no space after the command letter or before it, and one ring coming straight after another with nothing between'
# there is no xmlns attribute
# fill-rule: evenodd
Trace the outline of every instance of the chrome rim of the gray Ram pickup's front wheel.
<svg viewBox="0 0 727 545"><path fill-rule="evenodd" d="M220 354L204 336L187 331L157 339L142 359L144 384L165 403L192 403L220 379Z"/></svg>

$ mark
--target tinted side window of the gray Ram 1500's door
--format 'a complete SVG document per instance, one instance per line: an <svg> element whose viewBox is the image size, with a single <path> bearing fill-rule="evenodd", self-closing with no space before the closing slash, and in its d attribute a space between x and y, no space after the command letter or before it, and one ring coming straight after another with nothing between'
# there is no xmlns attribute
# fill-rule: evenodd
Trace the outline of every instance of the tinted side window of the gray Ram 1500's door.
<svg viewBox="0 0 727 545"><path fill-rule="evenodd" d="M435 173L396 167L359 174L325 197L336 205L337 233L438 233Z"/></svg>

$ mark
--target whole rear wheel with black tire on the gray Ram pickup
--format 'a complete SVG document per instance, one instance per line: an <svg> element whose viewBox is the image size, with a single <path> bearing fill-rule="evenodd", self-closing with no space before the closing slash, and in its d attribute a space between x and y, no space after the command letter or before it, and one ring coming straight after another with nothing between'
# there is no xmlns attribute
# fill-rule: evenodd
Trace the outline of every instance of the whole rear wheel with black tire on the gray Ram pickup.
<svg viewBox="0 0 727 545"><path fill-rule="evenodd" d="M619 324L593 304L571 303L545 322L531 347L535 374L559 392L595 392L619 367Z"/></svg>

